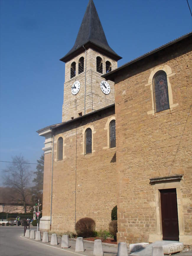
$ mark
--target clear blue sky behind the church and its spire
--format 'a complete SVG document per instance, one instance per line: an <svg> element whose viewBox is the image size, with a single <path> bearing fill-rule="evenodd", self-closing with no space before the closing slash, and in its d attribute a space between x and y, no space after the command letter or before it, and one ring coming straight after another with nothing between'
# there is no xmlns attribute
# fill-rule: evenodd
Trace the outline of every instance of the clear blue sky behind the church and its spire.
<svg viewBox="0 0 192 256"><path fill-rule="evenodd" d="M94 3L110 47L123 57L118 67L192 30L186 0ZM65 66L59 59L74 45L88 0L0 4L0 160L23 155L36 163L44 146L36 131L61 122ZM0 162L1 175L6 166Z"/></svg>

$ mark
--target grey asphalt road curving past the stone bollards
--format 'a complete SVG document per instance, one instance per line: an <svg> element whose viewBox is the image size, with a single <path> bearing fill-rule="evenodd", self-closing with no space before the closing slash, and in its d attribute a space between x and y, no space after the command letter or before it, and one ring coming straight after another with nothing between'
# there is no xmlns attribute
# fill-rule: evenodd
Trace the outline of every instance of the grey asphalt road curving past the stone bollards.
<svg viewBox="0 0 192 256"><path fill-rule="evenodd" d="M0 256L77 256L20 237L23 229L21 226L0 226ZM30 227L31 229L37 230L37 227Z"/></svg>

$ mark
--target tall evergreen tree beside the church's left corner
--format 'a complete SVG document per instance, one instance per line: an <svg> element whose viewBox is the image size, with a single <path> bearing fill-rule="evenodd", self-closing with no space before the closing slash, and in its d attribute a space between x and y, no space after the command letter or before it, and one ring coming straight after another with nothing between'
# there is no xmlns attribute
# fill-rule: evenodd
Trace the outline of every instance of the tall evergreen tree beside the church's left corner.
<svg viewBox="0 0 192 256"><path fill-rule="evenodd" d="M42 201L43 201L43 171L44 171L44 155L40 156L40 159L37 160L38 165L36 166L36 170L34 172L35 178L33 182L35 186L32 187L32 194L33 194L33 203L35 202L35 197L38 197L40 200L40 208L42 210Z"/></svg>

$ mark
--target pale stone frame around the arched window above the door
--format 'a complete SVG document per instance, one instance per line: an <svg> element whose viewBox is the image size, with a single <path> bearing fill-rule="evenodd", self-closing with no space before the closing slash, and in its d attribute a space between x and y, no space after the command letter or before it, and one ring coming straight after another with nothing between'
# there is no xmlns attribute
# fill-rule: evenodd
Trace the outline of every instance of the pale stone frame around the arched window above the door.
<svg viewBox="0 0 192 256"><path fill-rule="evenodd" d="M167 64L165 65L160 65L156 68L154 68L152 71L151 71L151 74L149 76L149 79L148 79L148 83L145 85L145 86L149 86L150 85L150 90L151 90L151 98L152 98L152 110L149 110L147 111L147 114L148 115L157 115L157 114L160 114L161 112L163 111L160 111L160 112L155 112L155 107L154 107L154 98L153 98L153 78L154 78L154 75L158 72L158 71L164 71L166 74L167 74L167 86L168 86L168 95L169 95L169 109L166 109L166 110L163 110L163 111L167 111L167 110L170 110L172 111L173 108L175 108L176 106L178 106L179 104L178 103L175 103L173 104L173 94L172 94L172 88L171 88L171 84L170 84L170 81L169 81L169 77L172 77L175 75L175 73L172 73L172 70L171 70L171 67L168 66Z"/></svg>

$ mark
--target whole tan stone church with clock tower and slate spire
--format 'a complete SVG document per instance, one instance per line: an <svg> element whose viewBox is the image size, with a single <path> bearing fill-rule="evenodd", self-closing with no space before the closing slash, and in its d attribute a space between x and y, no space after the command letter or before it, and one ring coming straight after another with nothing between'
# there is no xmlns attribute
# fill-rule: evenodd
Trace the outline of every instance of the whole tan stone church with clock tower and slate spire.
<svg viewBox="0 0 192 256"><path fill-rule="evenodd" d="M84 217L118 242L192 244L191 35L117 68L90 0L65 62L62 122L45 137L41 230ZM70 111L69 111L70 110Z"/></svg>

